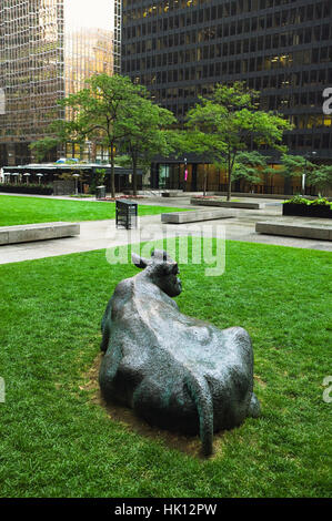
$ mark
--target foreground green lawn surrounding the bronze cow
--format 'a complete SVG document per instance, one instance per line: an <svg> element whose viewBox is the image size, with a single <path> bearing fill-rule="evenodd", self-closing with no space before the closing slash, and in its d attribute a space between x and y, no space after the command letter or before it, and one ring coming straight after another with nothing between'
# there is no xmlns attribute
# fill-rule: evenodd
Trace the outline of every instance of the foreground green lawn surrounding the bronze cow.
<svg viewBox="0 0 332 521"><path fill-rule="evenodd" d="M0 266L0 496L329 497L331 254L228 242L221 277L181 266L180 309L241 325L254 346L262 416L217 435L209 460L95 402L100 318L137 272L111 267L104 252Z"/></svg>

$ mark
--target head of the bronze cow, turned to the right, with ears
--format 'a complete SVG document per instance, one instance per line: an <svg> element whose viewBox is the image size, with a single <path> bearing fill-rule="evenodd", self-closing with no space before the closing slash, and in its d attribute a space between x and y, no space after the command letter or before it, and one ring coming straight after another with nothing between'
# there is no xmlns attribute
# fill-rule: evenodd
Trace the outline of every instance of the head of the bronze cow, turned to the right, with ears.
<svg viewBox="0 0 332 521"><path fill-rule="evenodd" d="M180 273L178 263L173 260L167 252L154 249L151 253L151 258L149 259L140 257L135 253L132 253L131 257L135 266L142 269L147 268L147 276L162 292L170 297L177 297L180 295L182 285L178 277L178 274Z"/></svg>

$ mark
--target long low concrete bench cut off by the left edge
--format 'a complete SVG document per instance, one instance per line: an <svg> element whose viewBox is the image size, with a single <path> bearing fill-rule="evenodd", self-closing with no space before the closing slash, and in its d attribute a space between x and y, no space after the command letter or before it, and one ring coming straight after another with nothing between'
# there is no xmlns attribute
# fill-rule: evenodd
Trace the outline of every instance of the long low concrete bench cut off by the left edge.
<svg viewBox="0 0 332 521"><path fill-rule="evenodd" d="M0 245L71 237L73 235L80 235L80 225L77 223L39 223L1 226Z"/></svg>

